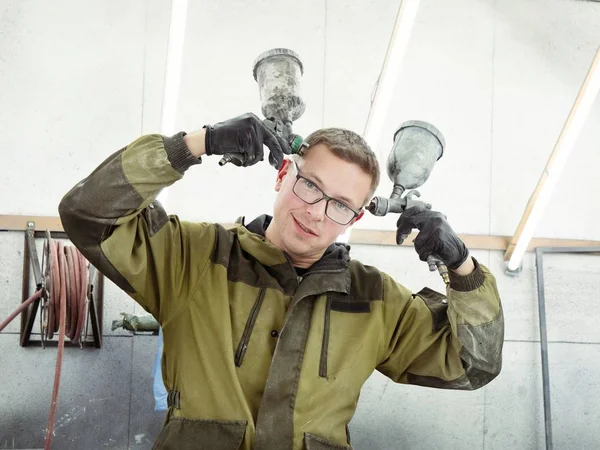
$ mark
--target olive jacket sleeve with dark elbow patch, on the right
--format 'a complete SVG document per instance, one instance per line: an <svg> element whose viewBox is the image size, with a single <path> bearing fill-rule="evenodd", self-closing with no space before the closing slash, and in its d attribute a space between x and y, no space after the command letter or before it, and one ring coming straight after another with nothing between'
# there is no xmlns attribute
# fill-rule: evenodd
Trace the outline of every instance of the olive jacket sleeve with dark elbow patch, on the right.
<svg viewBox="0 0 600 450"><path fill-rule="evenodd" d="M447 296L411 294L384 275L385 350L377 369L398 383L474 390L502 367L504 318L496 280L476 260L451 274Z"/></svg>

